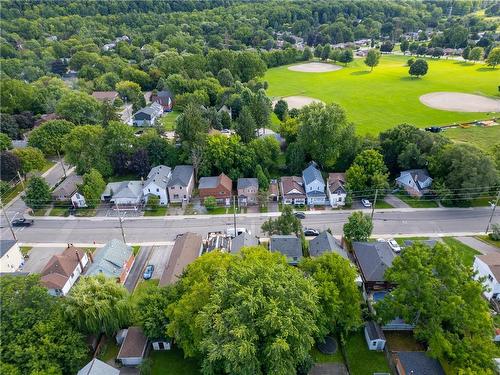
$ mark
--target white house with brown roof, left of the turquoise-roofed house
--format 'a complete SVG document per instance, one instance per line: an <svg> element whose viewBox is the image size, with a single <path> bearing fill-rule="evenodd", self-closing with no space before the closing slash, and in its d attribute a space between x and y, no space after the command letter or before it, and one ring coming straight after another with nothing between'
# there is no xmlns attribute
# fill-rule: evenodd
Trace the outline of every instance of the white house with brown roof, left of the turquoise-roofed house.
<svg viewBox="0 0 500 375"><path fill-rule="evenodd" d="M65 296L88 264L87 254L77 247L68 245L60 255L49 259L41 272L40 281L53 296Z"/></svg>

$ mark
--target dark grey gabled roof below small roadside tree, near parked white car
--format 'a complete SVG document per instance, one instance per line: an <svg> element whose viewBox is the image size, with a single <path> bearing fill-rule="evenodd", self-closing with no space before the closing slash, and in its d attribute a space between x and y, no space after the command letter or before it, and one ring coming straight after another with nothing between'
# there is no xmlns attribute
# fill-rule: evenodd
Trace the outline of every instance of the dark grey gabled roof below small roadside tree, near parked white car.
<svg viewBox="0 0 500 375"><path fill-rule="evenodd" d="M366 281L385 281L385 271L396 257L387 242L353 242L354 254Z"/></svg>

